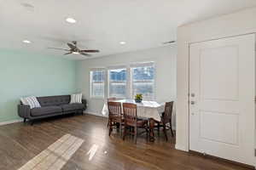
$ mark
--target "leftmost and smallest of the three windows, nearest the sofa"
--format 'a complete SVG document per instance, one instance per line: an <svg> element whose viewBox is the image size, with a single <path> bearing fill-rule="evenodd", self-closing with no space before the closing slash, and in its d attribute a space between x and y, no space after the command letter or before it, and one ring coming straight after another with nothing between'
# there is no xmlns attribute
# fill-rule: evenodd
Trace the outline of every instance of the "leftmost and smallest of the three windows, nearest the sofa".
<svg viewBox="0 0 256 170"><path fill-rule="evenodd" d="M90 71L90 97L104 98L104 74L103 70Z"/></svg>

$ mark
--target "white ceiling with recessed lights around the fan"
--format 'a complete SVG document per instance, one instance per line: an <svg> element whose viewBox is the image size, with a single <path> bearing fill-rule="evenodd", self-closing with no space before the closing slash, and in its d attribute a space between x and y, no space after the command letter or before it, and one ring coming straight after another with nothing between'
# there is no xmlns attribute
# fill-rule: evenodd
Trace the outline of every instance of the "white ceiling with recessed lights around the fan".
<svg viewBox="0 0 256 170"><path fill-rule="evenodd" d="M101 50L95 57L155 48L175 40L177 26L254 5L255 0L0 0L0 48L63 54L48 47L67 48L66 42L76 40L80 48ZM68 24L67 17L77 23Z"/></svg>

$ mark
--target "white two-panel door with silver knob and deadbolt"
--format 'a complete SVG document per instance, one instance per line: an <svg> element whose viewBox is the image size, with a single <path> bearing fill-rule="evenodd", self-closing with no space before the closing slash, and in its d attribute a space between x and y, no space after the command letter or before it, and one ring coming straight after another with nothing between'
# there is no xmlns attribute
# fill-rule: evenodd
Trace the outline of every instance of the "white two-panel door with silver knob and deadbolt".
<svg viewBox="0 0 256 170"><path fill-rule="evenodd" d="M189 150L254 165L254 44L246 35L189 47Z"/></svg>

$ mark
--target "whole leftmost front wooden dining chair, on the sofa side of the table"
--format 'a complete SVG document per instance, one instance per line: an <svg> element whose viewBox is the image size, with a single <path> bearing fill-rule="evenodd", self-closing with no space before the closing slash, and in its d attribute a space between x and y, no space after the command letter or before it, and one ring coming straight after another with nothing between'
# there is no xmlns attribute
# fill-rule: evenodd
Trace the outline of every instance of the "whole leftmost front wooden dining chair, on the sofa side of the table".
<svg viewBox="0 0 256 170"><path fill-rule="evenodd" d="M122 134L123 122L122 104L119 102L108 101L108 135L110 136L112 133L114 125L121 130Z"/></svg>

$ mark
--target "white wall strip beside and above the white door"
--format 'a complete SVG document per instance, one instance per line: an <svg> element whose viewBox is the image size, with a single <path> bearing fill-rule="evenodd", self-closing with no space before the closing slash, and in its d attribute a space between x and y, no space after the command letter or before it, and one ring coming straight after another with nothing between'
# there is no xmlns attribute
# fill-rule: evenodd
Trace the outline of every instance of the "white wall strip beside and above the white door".
<svg viewBox="0 0 256 170"><path fill-rule="evenodd" d="M189 150L189 42L256 32L256 8L247 8L177 29L177 144Z"/></svg>

